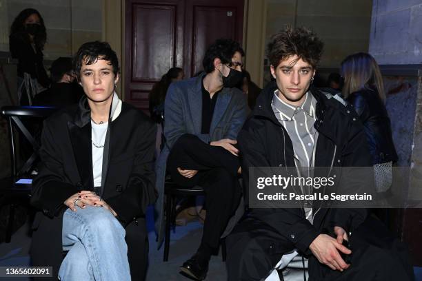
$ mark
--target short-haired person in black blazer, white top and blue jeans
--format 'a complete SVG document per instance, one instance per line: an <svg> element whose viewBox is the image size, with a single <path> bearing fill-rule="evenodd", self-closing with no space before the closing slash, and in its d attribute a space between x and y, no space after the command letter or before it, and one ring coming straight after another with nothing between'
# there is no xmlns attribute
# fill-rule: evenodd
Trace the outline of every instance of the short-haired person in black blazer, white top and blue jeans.
<svg viewBox="0 0 422 281"><path fill-rule="evenodd" d="M85 96L43 126L32 264L60 280L144 280L157 129L117 96L119 61L108 43L81 45L74 70Z"/></svg>

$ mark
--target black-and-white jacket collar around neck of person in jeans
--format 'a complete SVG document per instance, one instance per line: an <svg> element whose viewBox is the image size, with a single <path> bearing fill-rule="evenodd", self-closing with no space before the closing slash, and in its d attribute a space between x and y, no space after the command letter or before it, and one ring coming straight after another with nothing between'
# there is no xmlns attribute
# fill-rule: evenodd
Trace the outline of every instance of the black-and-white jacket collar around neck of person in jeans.
<svg viewBox="0 0 422 281"><path fill-rule="evenodd" d="M114 121L121 113L121 99L117 96L117 93L113 93L113 100L110 108L110 114L108 120ZM84 127L91 121L91 109L88 105L88 98L83 96L79 100L79 105L76 114L74 114L73 123L78 127Z"/></svg>

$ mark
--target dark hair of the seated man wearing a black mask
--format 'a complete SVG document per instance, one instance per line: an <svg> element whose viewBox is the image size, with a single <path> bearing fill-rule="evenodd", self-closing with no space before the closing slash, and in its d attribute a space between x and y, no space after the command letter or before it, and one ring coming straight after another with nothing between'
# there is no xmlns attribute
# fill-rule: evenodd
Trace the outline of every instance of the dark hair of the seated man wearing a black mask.
<svg viewBox="0 0 422 281"><path fill-rule="evenodd" d="M241 45L232 39L217 39L205 52L203 56L203 70L206 73L214 71L214 59L219 58L221 63L232 63L232 57L235 52L239 52L241 56L245 56L245 52Z"/></svg>

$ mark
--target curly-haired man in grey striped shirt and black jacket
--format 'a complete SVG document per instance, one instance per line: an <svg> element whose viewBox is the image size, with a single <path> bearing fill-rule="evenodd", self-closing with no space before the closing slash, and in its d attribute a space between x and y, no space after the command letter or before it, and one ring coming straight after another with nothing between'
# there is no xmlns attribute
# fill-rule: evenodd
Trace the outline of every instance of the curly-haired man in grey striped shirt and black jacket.
<svg viewBox="0 0 422 281"><path fill-rule="evenodd" d="M312 87L322 51L323 43L307 28L286 28L268 43L275 81L261 92L238 137L246 187L249 167L370 166L350 105ZM308 258L312 280L320 280L325 269L341 273L350 267L341 255L351 253L343 239L366 216L365 209L324 209L316 202L250 209L227 238L228 280L262 280L277 274L274 268L282 275L290 271L288 280L306 280Z"/></svg>

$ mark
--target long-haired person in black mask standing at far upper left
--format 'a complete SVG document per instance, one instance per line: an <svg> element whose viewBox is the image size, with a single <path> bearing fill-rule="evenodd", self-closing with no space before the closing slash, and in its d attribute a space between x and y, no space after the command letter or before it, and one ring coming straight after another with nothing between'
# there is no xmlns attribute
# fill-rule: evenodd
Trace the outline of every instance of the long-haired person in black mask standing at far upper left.
<svg viewBox="0 0 422 281"><path fill-rule="evenodd" d="M17 76L18 89L22 93L19 103L28 105L26 92L21 89L25 74L29 74L34 81L32 95L39 92L37 83L42 88L50 85L46 69L43 65L43 49L47 41L46 25L41 14L32 8L19 12L10 28L9 48L12 58L18 60Z"/></svg>

